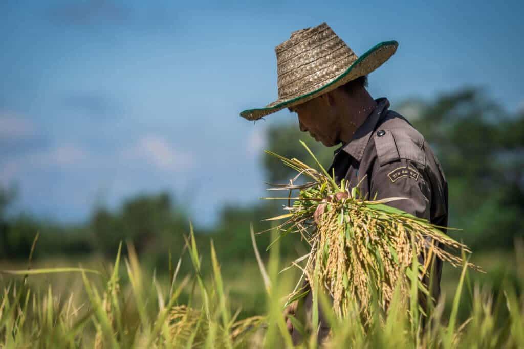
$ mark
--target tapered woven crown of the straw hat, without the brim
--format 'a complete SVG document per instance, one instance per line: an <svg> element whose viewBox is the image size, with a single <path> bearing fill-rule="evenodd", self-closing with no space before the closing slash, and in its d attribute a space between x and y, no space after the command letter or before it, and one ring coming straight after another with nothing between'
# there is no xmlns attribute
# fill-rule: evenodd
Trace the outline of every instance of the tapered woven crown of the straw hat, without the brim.
<svg viewBox="0 0 524 349"><path fill-rule="evenodd" d="M326 23L293 31L289 40L275 47L275 53L280 100L315 91L358 59Z"/></svg>

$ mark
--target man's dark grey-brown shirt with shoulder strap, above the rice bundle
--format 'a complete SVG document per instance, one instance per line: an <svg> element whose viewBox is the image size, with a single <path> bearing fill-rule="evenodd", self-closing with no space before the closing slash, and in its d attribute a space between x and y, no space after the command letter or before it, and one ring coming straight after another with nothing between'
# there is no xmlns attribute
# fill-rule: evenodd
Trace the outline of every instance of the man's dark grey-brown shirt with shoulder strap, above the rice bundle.
<svg viewBox="0 0 524 349"><path fill-rule="evenodd" d="M353 139L335 151L328 172L335 181L350 181L368 199L406 197L389 206L447 225L447 182L424 137L406 118L388 110L386 98L377 99Z"/></svg>

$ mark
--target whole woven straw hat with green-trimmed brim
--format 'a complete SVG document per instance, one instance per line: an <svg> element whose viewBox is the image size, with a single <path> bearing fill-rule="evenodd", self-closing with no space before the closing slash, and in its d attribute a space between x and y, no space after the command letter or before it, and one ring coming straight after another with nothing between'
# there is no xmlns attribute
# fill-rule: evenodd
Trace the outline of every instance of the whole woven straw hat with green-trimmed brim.
<svg viewBox="0 0 524 349"><path fill-rule="evenodd" d="M240 115L257 120L307 102L374 71L397 47L397 41L381 42L358 58L325 23L294 31L289 40L275 48L278 99L264 108L244 110Z"/></svg>

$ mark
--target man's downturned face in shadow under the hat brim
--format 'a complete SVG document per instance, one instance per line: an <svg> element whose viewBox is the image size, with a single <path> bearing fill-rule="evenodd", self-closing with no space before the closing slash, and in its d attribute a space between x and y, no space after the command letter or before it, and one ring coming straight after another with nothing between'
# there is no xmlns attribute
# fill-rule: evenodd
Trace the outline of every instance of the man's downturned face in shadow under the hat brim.
<svg viewBox="0 0 524 349"><path fill-rule="evenodd" d="M298 114L300 130L309 132L326 147L340 143L337 112L330 98L329 94L324 94L290 108Z"/></svg>

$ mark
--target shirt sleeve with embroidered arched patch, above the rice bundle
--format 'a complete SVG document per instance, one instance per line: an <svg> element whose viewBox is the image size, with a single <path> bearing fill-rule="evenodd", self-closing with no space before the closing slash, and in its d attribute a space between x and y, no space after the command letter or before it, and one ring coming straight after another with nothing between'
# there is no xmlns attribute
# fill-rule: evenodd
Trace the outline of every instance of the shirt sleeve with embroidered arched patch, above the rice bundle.
<svg viewBox="0 0 524 349"><path fill-rule="evenodd" d="M380 165L376 161L371 173L369 189L369 199L405 198L388 202L386 205L430 220L429 179L417 163L400 159Z"/></svg>

